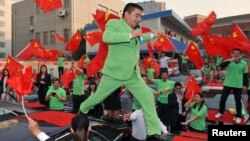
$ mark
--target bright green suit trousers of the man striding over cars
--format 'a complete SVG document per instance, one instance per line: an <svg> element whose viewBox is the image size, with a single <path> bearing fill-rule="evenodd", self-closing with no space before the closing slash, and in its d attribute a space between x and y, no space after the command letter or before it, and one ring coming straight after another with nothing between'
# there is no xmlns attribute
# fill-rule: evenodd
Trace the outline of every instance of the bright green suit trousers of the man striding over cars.
<svg viewBox="0 0 250 141"><path fill-rule="evenodd" d="M153 93L141 77L137 78L135 72L128 80L117 80L103 75L96 93L81 104L80 111L87 114L89 109L101 103L121 85L124 85L141 104L146 120L147 134L160 135L160 121L156 113Z"/></svg>

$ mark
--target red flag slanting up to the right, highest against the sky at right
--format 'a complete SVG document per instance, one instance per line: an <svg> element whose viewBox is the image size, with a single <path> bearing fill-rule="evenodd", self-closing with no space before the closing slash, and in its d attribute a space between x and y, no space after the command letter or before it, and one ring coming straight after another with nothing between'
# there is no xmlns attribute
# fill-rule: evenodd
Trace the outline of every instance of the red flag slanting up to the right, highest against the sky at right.
<svg viewBox="0 0 250 141"><path fill-rule="evenodd" d="M205 18L202 22L198 23L196 27L194 27L191 31L194 37L208 33L213 23L216 21L216 14L212 11L207 18Z"/></svg>

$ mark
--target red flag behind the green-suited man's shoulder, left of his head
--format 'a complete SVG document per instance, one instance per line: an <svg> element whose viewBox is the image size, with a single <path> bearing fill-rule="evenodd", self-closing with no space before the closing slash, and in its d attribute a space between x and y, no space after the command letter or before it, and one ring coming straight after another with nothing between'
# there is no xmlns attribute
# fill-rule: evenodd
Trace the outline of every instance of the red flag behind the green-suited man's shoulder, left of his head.
<svg viewBox="0 0 250 141"><path fill-rule="evenodd" d="M93 18L95 19L95 22L97 23L98 27L101 29L101 31L104 31L106 23L110 19L120 19L117 15L114 15L109 12L105 12L102 10L96 10L95 14L92 14Z"/></svg>

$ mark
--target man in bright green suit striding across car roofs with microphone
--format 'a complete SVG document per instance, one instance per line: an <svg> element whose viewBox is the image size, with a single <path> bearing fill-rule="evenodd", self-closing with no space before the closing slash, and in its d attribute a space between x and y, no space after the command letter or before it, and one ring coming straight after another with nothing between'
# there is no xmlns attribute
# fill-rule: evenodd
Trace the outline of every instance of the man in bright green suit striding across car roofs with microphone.
<svg viewBox="0 0 250 141"><path fill-rule="evenodd" d="M102 79L96 90L81 104L80 112L87 113L94 105L102 102L115 89L124 85L140 102L146 119L147 134L160 135L159 118L157 117L154 96L140 75L139 37L144 41L158 37L159 34L142 34L134 29L141 21L143 8L129 3L123 10L123 18L112 19L106 25L103 41L107 43L108 55L102 69Z"/></svg>

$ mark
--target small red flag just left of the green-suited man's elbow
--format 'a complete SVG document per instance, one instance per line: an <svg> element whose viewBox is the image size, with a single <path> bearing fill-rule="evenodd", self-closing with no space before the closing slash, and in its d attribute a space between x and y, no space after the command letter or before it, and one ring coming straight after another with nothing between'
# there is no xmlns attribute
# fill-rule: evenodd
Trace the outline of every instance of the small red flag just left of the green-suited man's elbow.
<svg viewBox="0 0 250 141"><path fill-rule="evenodd" d="M102 32L94 31L83 36L83 38L88 41L89 45L92 47L102 41Z"/></svg>

